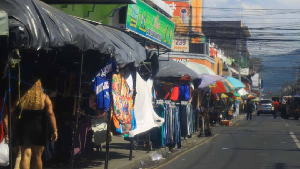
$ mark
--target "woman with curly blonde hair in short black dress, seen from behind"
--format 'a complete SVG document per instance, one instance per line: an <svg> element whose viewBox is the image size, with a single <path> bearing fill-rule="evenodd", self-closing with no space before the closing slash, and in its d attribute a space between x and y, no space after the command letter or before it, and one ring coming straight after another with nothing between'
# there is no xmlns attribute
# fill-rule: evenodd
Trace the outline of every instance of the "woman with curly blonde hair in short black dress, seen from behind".
<svg viewBox="0 0 300 169"><path fill-rule="evenodd" d="M12 112L19 110L17 123L17 145L21 150L20 168L42 169L42 153L48 139L47 117L52 127L52 141L57 141L57 126L53 113L52 102L44 93L41 80L34 78L34 84L15 102ZM30 166L32 162L32 167Z"/></svg>

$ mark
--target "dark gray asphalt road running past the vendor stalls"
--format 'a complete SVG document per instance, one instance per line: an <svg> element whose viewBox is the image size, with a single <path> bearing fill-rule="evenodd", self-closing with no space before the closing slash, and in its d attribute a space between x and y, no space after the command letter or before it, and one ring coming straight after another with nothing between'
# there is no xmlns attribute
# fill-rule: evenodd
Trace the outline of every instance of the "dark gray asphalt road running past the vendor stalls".
<svg viewBox="0 0 300 169"><path fill-rule="evenodd" d="M253 116L223 127L206 143L158 168L295 169L300 168L300 121ZM297 144L298 143L298 144Z"/></svg>

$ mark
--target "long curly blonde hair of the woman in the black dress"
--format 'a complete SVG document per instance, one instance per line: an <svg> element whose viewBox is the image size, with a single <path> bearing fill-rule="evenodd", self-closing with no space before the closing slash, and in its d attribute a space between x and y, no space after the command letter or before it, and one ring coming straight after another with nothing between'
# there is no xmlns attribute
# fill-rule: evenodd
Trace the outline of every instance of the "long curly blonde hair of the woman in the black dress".
<svg viewBox="0 0 300 169"><path fill-rule="evenodd" d="M42 87L41 80L38 79L35 82L35 84L22 96L21 107L23 109L29 109L29 110L43 109L43 103L42 103L43 92L44 90ZM17 104L19 104L19 101Z"/></svg>

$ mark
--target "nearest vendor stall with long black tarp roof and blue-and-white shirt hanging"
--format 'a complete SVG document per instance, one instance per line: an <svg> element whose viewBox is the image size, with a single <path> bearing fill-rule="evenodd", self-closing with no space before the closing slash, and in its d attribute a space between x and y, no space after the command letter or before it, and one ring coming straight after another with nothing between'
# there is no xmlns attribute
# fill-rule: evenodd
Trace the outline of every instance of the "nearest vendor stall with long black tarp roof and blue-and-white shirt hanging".
<svg viewBox="0 0 300 169"><path fill-rule="evenodd" d="M20 95L17 87L33 86L33 83L29 83L31 76L41 78L44 92L52 100L58 121L60 139L55 146L59 149L56 152L56 155L61 157L59 160L69 161L66 157L70 156L72 168L74 155L88 153L92 146L90 131L93 120L107 117L110 124L111 111L122 125L122 129L123 126L128 129L124 132L129 134L132 128L128 127L128 124L132 124L134 120L131 109L126 112L128 114L124 114L126 117L128 115L130 120L123 120L118 116L122 113L118 114L116 109L111 108L116 102L107 98L128 96L128 102L131 105L134 103L137 67L152 57L152 52L145 50L123 32L86 23L38 0L5 0L1 2L0 10L5 10L9 16L9 54L3 57L1 74L3 77L8 75L11 98ZM14 65L16 68L13 69ZM150 73L155 71L154 69ZM125 77L123 75L126 72L129 76ZM128 77L131 77L131 83L127 82ZM125 78L126 87L120 84L121 81L125 84ZM94 83L96 84L93 88ZM112 83L116 83L115 87ZM106 84L110 86L109 89L106 88ZM130 90L119 93L120 88L116 87L117 85ZM11 98L8 100L12 100ZM94 100L97 102L94 103ZM106 167L109 129L107 127L105 137ZM12 128L9 131L11 139ZM82 142L85 143L84 146ZM45 151L50 150L48 153L51 154L51 149L53 144L49 140ZM49 154L47 158L50 158Z"/></svg>

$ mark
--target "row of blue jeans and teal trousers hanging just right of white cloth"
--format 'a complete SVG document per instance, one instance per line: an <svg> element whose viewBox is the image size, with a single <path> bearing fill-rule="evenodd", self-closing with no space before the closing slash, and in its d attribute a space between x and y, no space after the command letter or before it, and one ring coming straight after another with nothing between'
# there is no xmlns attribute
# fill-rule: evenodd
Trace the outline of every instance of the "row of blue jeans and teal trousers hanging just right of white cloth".
<svg viewBox="0 0 300 169"><path fill-rule="evenodd" d="M181 129L179 106L175 103L157 104L155 112L164 117L165 123L160 130L160 145L181 148Z"/></svg>

